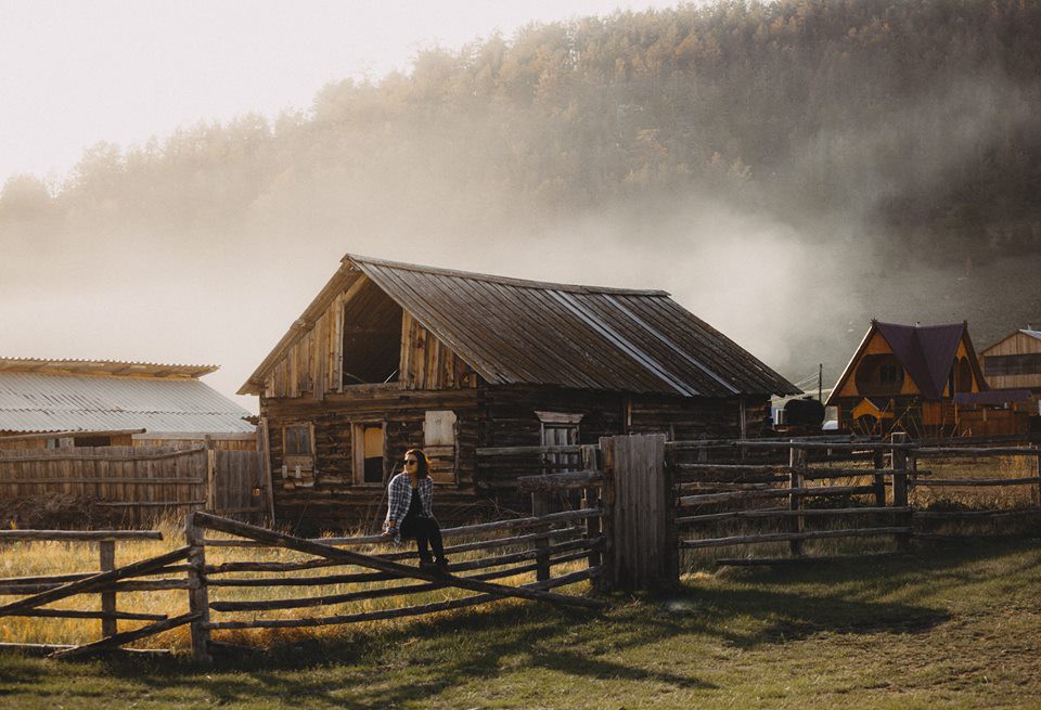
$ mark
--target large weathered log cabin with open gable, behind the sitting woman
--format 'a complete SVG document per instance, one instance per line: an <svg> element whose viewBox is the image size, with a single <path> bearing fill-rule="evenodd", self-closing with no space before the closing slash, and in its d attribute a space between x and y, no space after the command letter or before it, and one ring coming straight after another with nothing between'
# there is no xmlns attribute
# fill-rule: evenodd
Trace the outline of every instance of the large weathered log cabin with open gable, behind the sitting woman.
<svg viewBox="0 0 1041 710"><path fill-rule="evenodd" d="M660 291L347 255L239 393L260 398L278 521L339 530L380 524L411 447L442 521L520 513L512 479L539 472L477 448L738 437L797 391Z"/></svg>

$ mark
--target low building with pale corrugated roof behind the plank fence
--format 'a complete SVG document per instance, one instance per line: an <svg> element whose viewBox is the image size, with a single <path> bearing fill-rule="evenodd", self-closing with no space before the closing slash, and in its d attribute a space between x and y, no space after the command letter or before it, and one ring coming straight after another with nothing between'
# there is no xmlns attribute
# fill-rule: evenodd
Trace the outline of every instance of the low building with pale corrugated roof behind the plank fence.
<svg viewBox="0 0 1041 710"><path fill-rule="evenodd" d="M0 358L0 448L257 448L249 412L200 380L213 365Z"/></svg>

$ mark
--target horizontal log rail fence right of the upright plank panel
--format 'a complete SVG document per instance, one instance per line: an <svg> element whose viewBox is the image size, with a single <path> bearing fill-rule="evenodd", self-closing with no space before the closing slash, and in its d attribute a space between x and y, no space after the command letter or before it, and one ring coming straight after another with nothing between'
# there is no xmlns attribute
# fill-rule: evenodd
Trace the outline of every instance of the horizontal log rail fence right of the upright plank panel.
<svg viewBox="0 0 1041 710"><path fill-rule="evenodd" d="M903 550L914 538L958 537L962 532L956 528L959 522L1007 521L1014 517L1026 517L1034 525L1041 521L1041 493L1038 492L1041 476L1036 446L974 447L973 443L981 442L972 440L943 443L946 446L911 442L903 434L894 435L888 442L732 441L720 446L782 452L788 461L785 464L717 464L705 461L702 442L673 442L668 447L668 467L677 480L676 526L682 532L678 544L681 550L733 550L786 542L787 558L749 554L716 560L729 565L779 564L786 559L820 559L821 556L805 554L807 541L881 537L891 539L897 550ZM701 460L691 462L695 452L701 453ZM813 466L808 463L808 456L814 453L819 461L856 454L870 456L872 463L859 467ZM1026 459L1030 462L1030 475L944 478L918 466L920 462L951 457L971 457L976 465L985 465L978 462L994 456ZM916 489L979 487L1028 487L1033 491L1033 504L972 511L931 509L929 505L923 509L923 502L915 501L913 495ZM937 532L935 524L940 521L948 525Z"/></svg>

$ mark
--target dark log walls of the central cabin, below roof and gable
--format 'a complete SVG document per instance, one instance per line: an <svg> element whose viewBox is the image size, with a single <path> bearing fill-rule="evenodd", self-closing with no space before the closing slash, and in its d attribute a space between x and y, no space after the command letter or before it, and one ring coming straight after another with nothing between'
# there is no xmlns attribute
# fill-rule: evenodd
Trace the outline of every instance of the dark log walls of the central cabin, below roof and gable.
<svg viewBox="0 0 1041 710"><path fill-rule="evenodd" d="M766 398L746 403L746 418L760 421L768 406ZM261 415L269 433L277 520L306 532L376 529L386 514L385 485L400 470L398 461L406 450L424 448L426 413L445 410L455 415L455 446L454 451L441 452L441 467L434 468L435 515L453 524L530 511L530 498L517 491L515 479L544 473L548 460L528 455L478 463L476 449L541 446L537 412L581 414L578 443L582 444L627 433L737 437L741 417L737 399L680 400L484 382L444 390L409 389L403 383L357 386L327 393L321 403L309 398L265 398ZM301 423L313 427L314 463L313 470L301 470L297 478L286 463L282 430L286 424ZM352 426L362 423L384 426L381 485L356 479Z"/></svg>

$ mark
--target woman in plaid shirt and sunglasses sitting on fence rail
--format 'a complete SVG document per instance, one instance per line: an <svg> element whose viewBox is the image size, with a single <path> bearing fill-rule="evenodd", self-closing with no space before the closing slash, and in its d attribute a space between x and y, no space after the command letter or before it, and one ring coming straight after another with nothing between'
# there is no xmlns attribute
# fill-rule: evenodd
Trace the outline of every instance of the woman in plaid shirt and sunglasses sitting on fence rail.
<svg viewBox="0 0 1041 710"><path fill-rule="evenodd" d="M401 538L415 539L420 550L420 567L448 569L441 528L434 519L430 503L434 498L434 481L430 480L430 464L422 449L404 452L404 470L390 479L387 487L387 519L383 534L401 542ZM436 560L430 557L427 545L434 548Z"/></svg>

